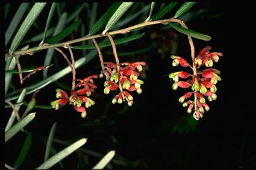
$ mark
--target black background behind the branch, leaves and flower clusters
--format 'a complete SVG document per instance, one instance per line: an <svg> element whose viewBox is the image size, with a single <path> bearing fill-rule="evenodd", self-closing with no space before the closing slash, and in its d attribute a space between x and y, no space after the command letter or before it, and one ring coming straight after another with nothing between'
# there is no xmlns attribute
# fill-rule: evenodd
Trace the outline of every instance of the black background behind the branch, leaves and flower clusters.
<svg viewBox="0 0 256 170"><path fill-rule="evenodd" d="M73 6L76 5L70 5L69 10L72 10ZM98 9L98 17L101 16L100 13L106 11L105 8L107 9L109 5L101 7L100 10ZM206 45L212 46L211 51L223 52L219 62L214 63L214 68L221 70L223 80L217 83L217 100L208 102L211 110L196 123L195 129L185 131L184 127L189 125L178 121L179 118L188 116L191 119L189 122L196 122L192 115L187 115L186 109L178 102L185 90L172 90L168 78L169 73L183 68L173 68L169 51L159 54L157 52L159 46L155 46L145 54L119 56L121 62L145 60L148 64L145 70L147 76L143 79L145 82L142 86L143 93L133 94L132 107L125 104L108 106L113 98L111 97L113 92L109 95L103 94L103 80L99 79L95 81L98 86L97 92L91 96L96 104L87 109L85 119L80 118L79 113L69 105L57 111L34 108L37 116L27 126L27 130L33 134L31 149L21 169L35 168L43 162L45 151L43 140L47 139L54 122L57 122L55 132L57 139L72 143L77 139L87 137L88 141L83 147L103 155L115 149L116 158L126 163L126 165L111 163L115 169L208 167L248 169L255 167L255 119L253 119L253 114L255 114L255 39L253 37L254 21L249 19L253 9L250 9L249 4L220 2L197 3L193 8L197 10L202 7L209 11L188 21L187 26L212 37L209 42L194 39L196 54ZM10 15L14 11L15 7L13 9L11 7ZM7 19L6 22L9 20ZM133 23L130 24L133 25ZM146 34L141 40L131 42L127 46L117 46L117 52L145 48L159 41L151 39L150 35L159 31L160 27L158 25L145 29ZM163 37L167 34L166 31L159 32ZM177 55L187 57L189 60L190 48L187 37L175 31L174 33L178 36ZM104 52L110 51L111 48L104 48L102 52L104 55ZM37 55L39 56L29 59L22 58L21 65L23 63L24 65L29 63L27 66L32 65L31 63L40 65L43 63L45 53L39 52ZM108 54L104 57L107 58L106 60L113 59L113 56ZM64 67L67 64L60 61L60 65ZM49 74L57 71L54 69L56 68L49 70ZM98 74L99 70L99 60L94 58L82 68L77 69L77 77ZM16 84L17 88L28 86L41 80L41 73L37 74L39 76L34 74L29 80L25 80L22 86L18 84L18 76L13 76L13 84ZM59 81L71 86L71 75ZM37 104L49 105L55 100L56 88L59 86L53 83L41 89L36 96ZM25 99L29 101L30 98L31 95L28 95ZM7 113L11 112L11 110L7 111ZM9 116L5 116L5 122L8 118ZM179 126L181 131L175 131L173 129L175 126ZM5 161L9 165L16 161L24 139L25 134L18 133L5 144ZM64 148L64 145L59 143L53 143L53 146L57 151ZM87 168L93 167L100 159L85 153L84 156L89 160ZM77 165L77 155L72 154L63 159L63 165L67 169L74 169ZM55 168L59 168L59 165L55 165Z"/></svg>

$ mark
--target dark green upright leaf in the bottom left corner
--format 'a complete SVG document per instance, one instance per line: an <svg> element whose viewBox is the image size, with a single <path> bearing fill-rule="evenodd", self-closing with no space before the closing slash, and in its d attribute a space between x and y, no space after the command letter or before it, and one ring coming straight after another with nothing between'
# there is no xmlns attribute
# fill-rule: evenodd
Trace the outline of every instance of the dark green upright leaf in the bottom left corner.
<svg viewBox="0 0 256 170"><path fill-rule="evenodd" d="M21 164L23 163L23 161L27 157L27 153L29 152L31 141L32 141L32 133L30 131L28 131L26 139L25 139L25 141L23 143L23 146L21 148L21 152L19 153L19 157L13 165L13 167L15 169L19 168L19 166L21 166Z"/></svg>

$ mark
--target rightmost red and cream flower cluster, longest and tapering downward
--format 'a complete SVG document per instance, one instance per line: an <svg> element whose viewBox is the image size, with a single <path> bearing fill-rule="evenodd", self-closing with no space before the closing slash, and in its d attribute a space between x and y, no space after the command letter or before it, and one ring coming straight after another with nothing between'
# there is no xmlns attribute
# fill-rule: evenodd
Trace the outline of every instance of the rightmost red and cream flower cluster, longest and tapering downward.
<svg viewBox="0 0 256 170"><path fill-rule="evenodd" d="M202 65L206 67L213 66L213 61L218 62L219 56L223 54L221 52L209 52L210 46L206 46L199 52L195 60L193 61L193 66L200 68ZM181 64L183 67L190 66L189 63L181 58L180 56L171 56L173 58L173 66ZM192 69L193 66L190 66ZM203 118L203 113L209 111L209 106L206 104L205 98L210 102L217 99L216 91L217 88L215 84L221 80L218 75L221 72L215 68L205 68L201 71L196 70L196 74L189 74L184 71L173 72L169 74L169 78L172 78L175 82L173 83L173 90L177 90L178 87L181 88L191 88L192 92L187 92L181 98L179 102L182 103L183 107L187 107L187 113L191 113L194 108L193 117L195 120ZM190 78L189 78L190 77ZM179 78L189 78L186 81L179 81ZM191 100L191 96L194 98Z"/></svg>

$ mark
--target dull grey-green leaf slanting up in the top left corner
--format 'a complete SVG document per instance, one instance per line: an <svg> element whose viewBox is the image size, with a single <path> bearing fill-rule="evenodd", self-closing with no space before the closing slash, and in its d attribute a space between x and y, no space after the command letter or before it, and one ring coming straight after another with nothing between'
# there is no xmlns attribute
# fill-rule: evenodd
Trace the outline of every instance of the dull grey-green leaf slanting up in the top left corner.
<svg viewBox="0 0 256 170"><path fill-rule="evenodd" d="M19 22L21 21L23 15L25 14L25 11L27 10L28 6L29 3L21 3L21 5L19 5L17 12L13 16L13 19L11 19L11 23L7 31L5 32L5 46L8 44L11 37L13 36L13 33L17 29L17 26L19 25Z"/></svg>

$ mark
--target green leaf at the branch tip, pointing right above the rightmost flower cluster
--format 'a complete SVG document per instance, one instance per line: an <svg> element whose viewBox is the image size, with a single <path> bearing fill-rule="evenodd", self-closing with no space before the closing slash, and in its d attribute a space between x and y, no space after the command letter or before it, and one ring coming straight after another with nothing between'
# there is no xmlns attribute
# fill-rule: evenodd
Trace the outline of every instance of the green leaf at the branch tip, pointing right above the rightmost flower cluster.
<svg viewBox="0 0 256 170"><path fill-rule="evenodd" d="M173 29L179 31L180 33L183 33L185 35L189 35L191 37L194 37L196 39L200 39L203 41L210 41L211 37L209 35L204 35L202 33L198 33L196 31L190 30L190 29L185 29L183 27L179 27L178 25L175 25L173 23L169 23L169 25L171 25L171 27L173 27Z"/></svg>

